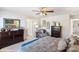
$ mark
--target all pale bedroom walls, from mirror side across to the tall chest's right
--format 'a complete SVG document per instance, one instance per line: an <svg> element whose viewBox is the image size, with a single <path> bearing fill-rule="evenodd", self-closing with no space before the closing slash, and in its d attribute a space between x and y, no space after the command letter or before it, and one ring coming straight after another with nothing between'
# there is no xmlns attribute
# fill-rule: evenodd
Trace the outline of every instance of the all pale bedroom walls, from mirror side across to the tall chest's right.
<svg viewBox="0 0 79 59"><path fill-rule="evenodd" d="M21 20L21 26L24 27L29 35L33 35L35 33L35 28L34 28L34 22L35 23L40 23L41 20L47 20L52 24L53 21L57 21L61 23L62 26L62 37L67 38L70 36L70 18L69 15L62 14L62 15L52 15L52 16L46 16L43 18L27 18L26 16L22 16L20 14L12 13L10 11L1 11L0 12L0 28L3 26L3 18L14 18L14 19L20 19ZM50 29L48 29L50 32ZM25 34L27 32L25 31Z"/></svg>

